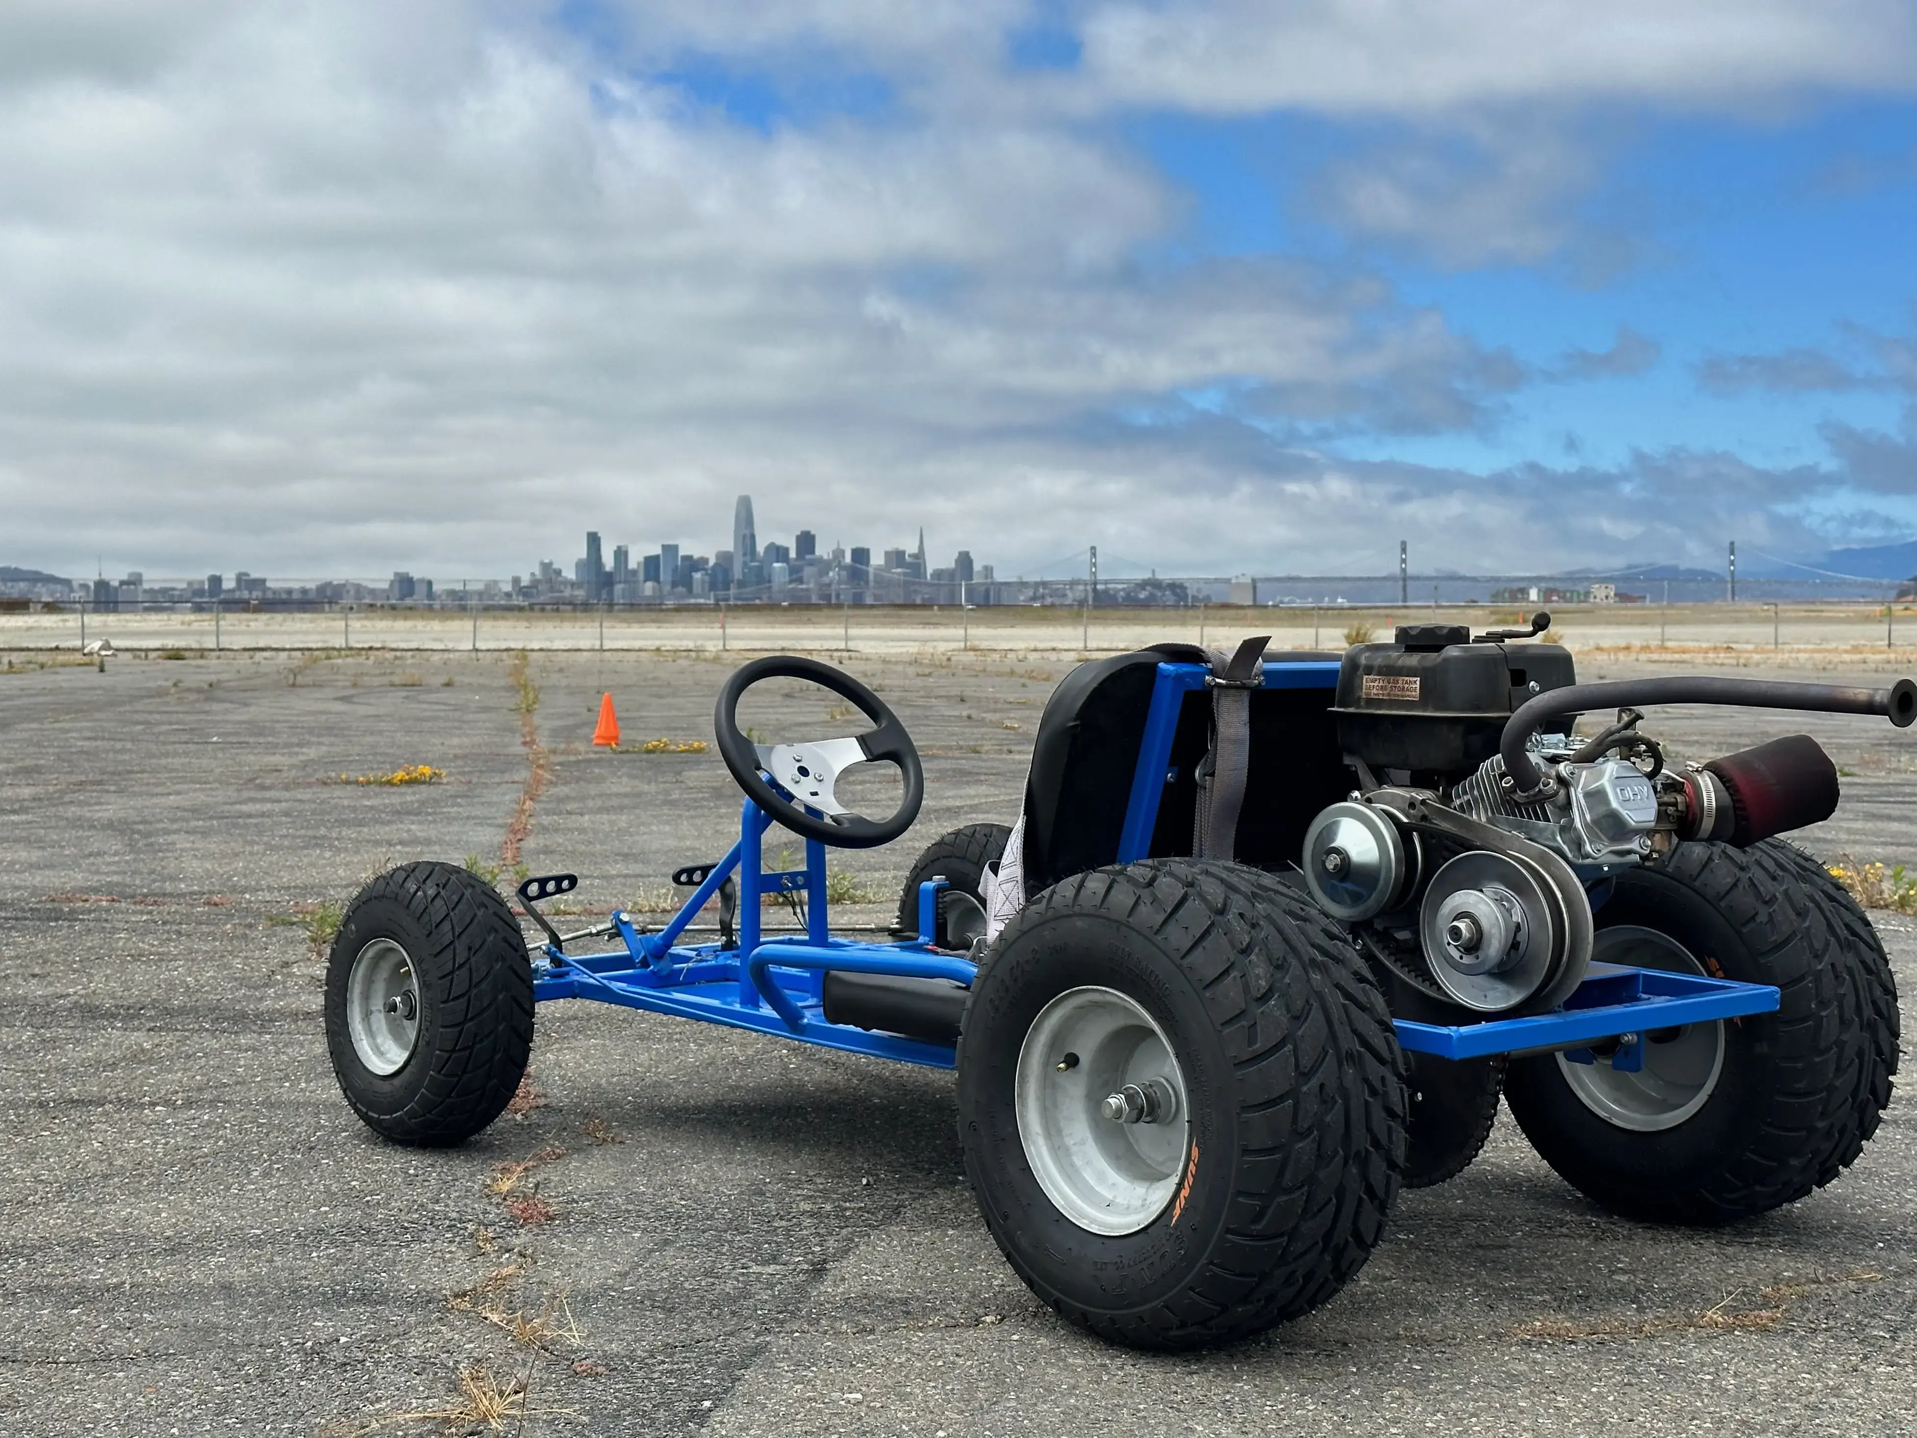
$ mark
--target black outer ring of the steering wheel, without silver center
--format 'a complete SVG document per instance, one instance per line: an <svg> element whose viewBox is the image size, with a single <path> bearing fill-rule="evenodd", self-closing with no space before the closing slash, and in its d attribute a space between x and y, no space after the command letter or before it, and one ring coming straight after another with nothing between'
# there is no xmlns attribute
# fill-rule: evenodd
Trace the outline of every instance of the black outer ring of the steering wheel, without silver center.
<svg viewBox="0 0 1917 1438"><path fill-rule="evenodd" d="M765 679L803 679L819 684L859 709L872 721L872 729L857 736L866 759L895 763L905 778L905 798L889 819L866 819L865 815L840 815L820 819L807 813L780 790L759 769L759 752L738 727L738 702L746 690ZM763 660L742 663L719 690L719 704L713 707L713 738L719 740L719 757L732 773L732 778L776 823L801 838L815 838L840 849L876 849L899 838L912 821L918 819L918 805L926 798L926 773L918 763L918 750L905 725L878 694L861 684L843 669L830 663L807 660L797 654L771 654Z"/></svg>

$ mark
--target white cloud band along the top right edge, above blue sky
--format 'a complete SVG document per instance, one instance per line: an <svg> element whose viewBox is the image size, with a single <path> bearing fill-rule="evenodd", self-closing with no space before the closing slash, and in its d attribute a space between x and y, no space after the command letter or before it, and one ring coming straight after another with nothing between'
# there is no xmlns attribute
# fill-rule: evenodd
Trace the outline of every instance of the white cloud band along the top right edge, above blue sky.
<svg viewBox="0 0 1917 1438"><path fill-rule="evenodd" d="M1645 100L1748 109L1917 86L1902 0L1298 0L1097 6L1085 104L1444 115Z"/></svg>

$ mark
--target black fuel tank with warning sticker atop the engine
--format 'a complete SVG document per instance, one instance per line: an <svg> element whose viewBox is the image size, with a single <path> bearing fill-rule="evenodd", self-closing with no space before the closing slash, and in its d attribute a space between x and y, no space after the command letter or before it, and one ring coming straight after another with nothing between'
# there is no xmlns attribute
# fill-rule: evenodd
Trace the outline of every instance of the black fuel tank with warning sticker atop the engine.
<svg viewBox="0 0 1917 1438"><path fill-rule="evenodd" d="M1405 625L1392 644L1344 652L1332 713L1344 752L1373 769L1463 777L1497 754L1513 709L1574 683L1560 644L1472 644L1463 625Z"/></svg>

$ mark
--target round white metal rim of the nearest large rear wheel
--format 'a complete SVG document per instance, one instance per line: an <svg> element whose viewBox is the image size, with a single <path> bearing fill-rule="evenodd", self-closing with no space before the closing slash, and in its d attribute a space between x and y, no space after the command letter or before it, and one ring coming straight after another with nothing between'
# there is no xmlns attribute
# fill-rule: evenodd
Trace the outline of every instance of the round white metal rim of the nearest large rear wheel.
<svg viewBox="0 0 1917 1438"><path fill-rule="evenodd" d="M1102 1112L1125 1085L1162 1085L1160 1122ZM1014 1078L1026 1162L1060 1214L1089 1233L1137 1233L1171 1202L1190 1141L1185 1074L1166 1033L1118 989L1068 989L1031 1020Z"/></svg>

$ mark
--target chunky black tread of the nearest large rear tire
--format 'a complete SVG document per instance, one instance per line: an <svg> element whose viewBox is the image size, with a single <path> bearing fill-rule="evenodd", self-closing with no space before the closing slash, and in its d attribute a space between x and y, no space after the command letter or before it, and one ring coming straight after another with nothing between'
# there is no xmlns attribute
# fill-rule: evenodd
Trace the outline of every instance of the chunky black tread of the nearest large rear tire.
<svg viewBox="0 0 1917 1438"><path fill-rule="evenodd" d="M1196 859L1068 878L1037 895L995 947L1087 911L1158 939L1217 1024L1238 1087L1227 1221L1171 1298L1127 1313L1049 1292L982 1202L1001 1252L1058 1313L1139 1348L1231 1342L1319 1308L1380 1241L1405 1150L1403 1055L1365 961L1294 888ZM1323 1112L1304 1112L1319 1097L1328 1099ZM1286 1108L1300 1122L1273 1133ZM980 1187L970 1152L968 1168Z"/></svg>

